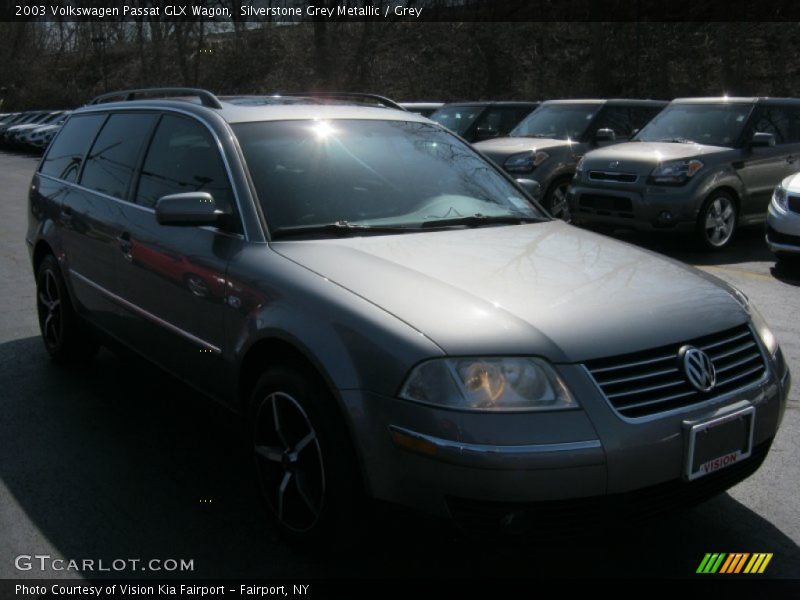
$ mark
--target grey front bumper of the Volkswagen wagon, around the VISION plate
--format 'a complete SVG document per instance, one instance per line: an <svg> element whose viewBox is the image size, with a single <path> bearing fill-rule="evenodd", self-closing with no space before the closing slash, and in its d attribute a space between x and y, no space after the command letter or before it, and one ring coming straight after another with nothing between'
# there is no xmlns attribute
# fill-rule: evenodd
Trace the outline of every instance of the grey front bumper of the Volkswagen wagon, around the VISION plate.
<svg viewBox="0 0 800 600"><path fill-rule="evenodd" d="M500 521L524 507L536 512L563 503L597 505L598 499L608 506L611 499L647 497L648 490L659 489L671 490L661 501L665 508L678 506L682 499L718 493L758 467L790 387L779 355L770 359L764 379L749 388L672 413L625 419L581 365L562 365L559 371L581 410L477 414L341 392L368 493L456 519L467 509L497 509ZM749 407L755 409L752 455L686 481L688 425Z"/></svg>

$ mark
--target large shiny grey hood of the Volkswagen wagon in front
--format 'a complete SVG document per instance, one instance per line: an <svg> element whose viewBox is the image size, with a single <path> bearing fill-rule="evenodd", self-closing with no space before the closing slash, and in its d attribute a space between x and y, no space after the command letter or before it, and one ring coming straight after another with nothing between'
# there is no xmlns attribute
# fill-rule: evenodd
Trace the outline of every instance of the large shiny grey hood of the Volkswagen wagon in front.
<svg viewBox="0 0 800 600"><path fill-rule="evenodd" d="M453 356L581 362L747 320L711 275L560 221L272 247Z"/></svg>

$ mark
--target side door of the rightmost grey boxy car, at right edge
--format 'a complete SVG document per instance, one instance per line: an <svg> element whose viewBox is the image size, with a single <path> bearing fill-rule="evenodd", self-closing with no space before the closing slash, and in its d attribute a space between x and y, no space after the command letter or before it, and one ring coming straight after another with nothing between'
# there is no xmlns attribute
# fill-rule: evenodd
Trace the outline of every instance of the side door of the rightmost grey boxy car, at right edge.
<svg viewBox="0 0 800 600"><path fill-rule="evenodd" d="M761 105L755 109L745 135L739 176L747 189L741 220L758 221L766 216L772 191L781 179L797 169L798 145L790 139L790 115L784 106ZM755 133L771 133L775 145L750 148Z"/></svg>

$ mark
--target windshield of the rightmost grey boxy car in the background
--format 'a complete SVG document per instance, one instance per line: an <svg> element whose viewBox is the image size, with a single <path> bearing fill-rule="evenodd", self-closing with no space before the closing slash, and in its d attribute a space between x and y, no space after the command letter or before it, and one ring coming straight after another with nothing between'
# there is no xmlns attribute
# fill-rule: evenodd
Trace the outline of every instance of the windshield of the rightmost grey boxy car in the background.
<svg viewBox="0 0 800 600"><path fill-rule="evenodd" d="M672 104L650 121L634 140L733 146L752 108L751 104Z"/></svg>

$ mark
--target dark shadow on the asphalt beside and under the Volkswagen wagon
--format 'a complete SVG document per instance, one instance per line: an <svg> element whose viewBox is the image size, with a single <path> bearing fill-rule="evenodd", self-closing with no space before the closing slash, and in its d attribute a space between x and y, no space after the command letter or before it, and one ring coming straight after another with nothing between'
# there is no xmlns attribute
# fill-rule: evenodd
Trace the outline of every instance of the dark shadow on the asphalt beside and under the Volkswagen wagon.
<svg viewBox="0 0 800 600"><path fill-rule="evenodd" d="M388 509L354 547L299 554L264 517L238 418L147 363L103 351L61 368L30 337L0 344L0 389L0 514L10 529L0 578L39 576L16 571L12 557L52 549L106 564L194 561L192 572L90 578L691 576L720 551L774 552L769 575L800 576L798 546L729 495L546 540L464 535Z"/></svg>

